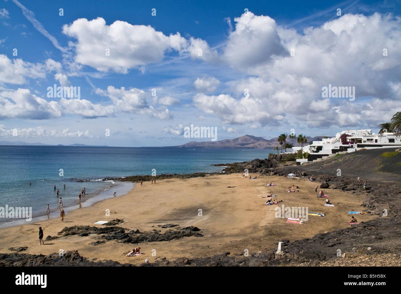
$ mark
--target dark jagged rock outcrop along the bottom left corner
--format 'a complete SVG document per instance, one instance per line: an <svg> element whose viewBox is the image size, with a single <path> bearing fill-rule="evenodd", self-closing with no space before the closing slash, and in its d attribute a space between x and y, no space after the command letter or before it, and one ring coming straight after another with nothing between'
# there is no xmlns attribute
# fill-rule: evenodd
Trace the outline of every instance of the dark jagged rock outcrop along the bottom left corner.
<svg viewBox="0 0 401 294"><path fill-rule="evenodd" d="M112 260L93 262L79 255L78 251L64 251L49 255L34 255L21 253L0 253L0 266L134 266L133 264L120 264Z"/></svg>

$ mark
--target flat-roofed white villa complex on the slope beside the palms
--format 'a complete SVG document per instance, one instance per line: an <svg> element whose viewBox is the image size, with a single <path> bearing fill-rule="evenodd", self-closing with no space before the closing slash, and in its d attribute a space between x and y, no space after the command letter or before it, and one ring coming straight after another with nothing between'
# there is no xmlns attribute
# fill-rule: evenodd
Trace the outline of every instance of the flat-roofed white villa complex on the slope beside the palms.
<svg viewBox="0 0 401 294"><path fill-rule="evenodd" d="M343 144L345 143L346 144ZM337 133L335 137L324 138L321 141L313 141L302 148L302 152L308 152L306 159L297 159L297 164L312 162L321 158L334 156L338 152L354 152L362 148L392 148L401 147L401 134L396 133L372 133L372 130L348 130ZM290 152L301 150L301 147L293 147Z"/></svg>

